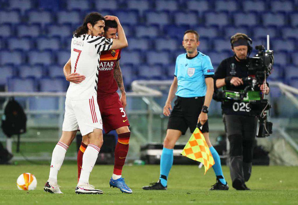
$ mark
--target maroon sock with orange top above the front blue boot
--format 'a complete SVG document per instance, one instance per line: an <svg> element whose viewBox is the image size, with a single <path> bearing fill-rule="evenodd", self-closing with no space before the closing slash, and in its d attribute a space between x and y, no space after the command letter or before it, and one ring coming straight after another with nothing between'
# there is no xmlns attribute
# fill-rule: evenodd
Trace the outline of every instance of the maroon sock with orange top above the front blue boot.
<svg viewBox="0 0 298 205"><path fill-rule="evenodd" d="M118 134L118 142L115 148L115 164L113 174L121 175L129 147L130 132Z"/></svg>

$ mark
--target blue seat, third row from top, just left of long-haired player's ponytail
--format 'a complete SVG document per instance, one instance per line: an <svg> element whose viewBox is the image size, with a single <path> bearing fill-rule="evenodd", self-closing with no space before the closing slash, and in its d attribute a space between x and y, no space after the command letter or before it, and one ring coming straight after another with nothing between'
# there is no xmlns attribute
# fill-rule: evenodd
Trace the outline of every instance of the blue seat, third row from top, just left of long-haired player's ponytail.
<svg viewBox="0 0 298 205"><path fill-rule="evenodd" d="M72 27L71 24L48 24L45 26L46 28L46 35L49 37L59 36L59 37L66 37L72 36Z"/></svg>

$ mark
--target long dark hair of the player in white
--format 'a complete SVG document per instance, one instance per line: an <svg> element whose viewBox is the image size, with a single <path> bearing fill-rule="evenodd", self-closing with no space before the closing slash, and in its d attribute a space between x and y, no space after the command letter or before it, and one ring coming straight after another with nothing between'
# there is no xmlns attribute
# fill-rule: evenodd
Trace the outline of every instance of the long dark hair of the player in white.
<svg viewBox="0 0 298 205"><path fill-rule="evenodd" d="M83 34L86 34L88 32L87 24L90 23L92 25L92 27L94 27L96 22L100 21L100 20L105 20L100 13L98 13L98 12L89 13L88 15L85 16L84 23L81 26L79 26L73 32L73 34L75 35L75 37L79 37Z"/></svg>

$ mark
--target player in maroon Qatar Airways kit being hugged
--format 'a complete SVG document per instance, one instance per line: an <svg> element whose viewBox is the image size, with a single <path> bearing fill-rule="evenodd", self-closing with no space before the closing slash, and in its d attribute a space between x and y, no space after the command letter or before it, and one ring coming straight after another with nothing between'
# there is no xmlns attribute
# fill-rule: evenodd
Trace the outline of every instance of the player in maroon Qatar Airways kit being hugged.
<svg viewBox="0 0 298 205"><path fill-rule="evenodd" d="M117 20L105 21L106 38L117 38ZM105 133L116 130L118 142L115 148L114 171L110 179L110 186L117 187L121 192L132 193L132 190L125 184L122 178L122 167L128 153L130 130L129 122L125 113L126 95L123 85L122 73L119 66L121 49L109 50L100 53L100 62L98 65L98 82L97 82L97 102L103 120ZM83 75L70 73L71 64L68 61L63 72L67 81L81 83L85 80ZM121 97L117 90L121 91ZM83 140L77 155L78 178L80 178L83 153L89 144L88 138L83 136Z"/></svg>

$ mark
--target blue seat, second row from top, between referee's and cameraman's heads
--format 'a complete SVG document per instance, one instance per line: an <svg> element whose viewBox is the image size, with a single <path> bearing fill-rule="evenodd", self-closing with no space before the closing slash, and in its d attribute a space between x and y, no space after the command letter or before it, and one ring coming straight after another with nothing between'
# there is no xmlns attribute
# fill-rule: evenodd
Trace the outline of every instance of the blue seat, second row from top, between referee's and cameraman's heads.
<svg viewBox="0 0 298 205"><path fill-rule="evenodd" d="M230 24L229 16L226 12L205 12L205 25L217 25L217 26L227 26Z"/></svg>

